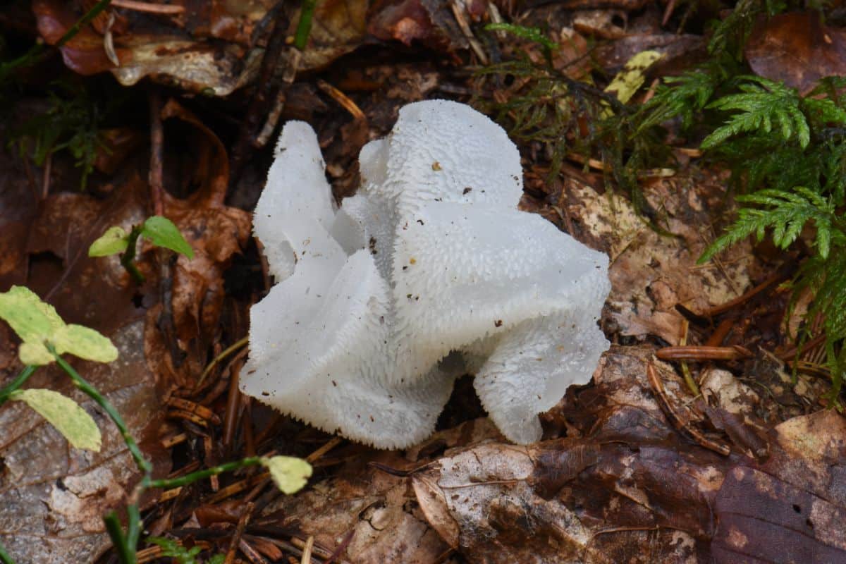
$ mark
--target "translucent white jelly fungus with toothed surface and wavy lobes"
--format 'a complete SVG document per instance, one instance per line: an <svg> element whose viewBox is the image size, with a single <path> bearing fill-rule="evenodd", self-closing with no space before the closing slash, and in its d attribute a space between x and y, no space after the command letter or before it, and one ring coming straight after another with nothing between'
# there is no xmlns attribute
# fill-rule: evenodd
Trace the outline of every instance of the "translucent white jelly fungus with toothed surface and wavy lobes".
<svg viewBox="0 0 846 564"><path fill-rule="evenodd" d="M519 152L452 101L399 112L360 154L336 210L314 131L285 125L255 208L277 284L250 310L241 390L329 432L383 448L435 427L457 375L475 374L508 439L591 379L606 255L519 211Z"/></svg>

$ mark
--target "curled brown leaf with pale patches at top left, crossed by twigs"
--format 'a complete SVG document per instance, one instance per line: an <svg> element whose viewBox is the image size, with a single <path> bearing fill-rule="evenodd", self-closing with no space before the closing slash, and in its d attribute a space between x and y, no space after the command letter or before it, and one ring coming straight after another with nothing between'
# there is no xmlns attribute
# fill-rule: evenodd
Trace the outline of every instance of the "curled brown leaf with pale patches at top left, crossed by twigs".
<svg viewBox="0 0 846 564"><path fill-rule="evenodd" d="M266 20L280 17L274 2L183 3L183 13L156 19L129 19L110 31L116 65L107 55L105 36L96 26L85 26L61 47L64 63L79 74L110 71L124 86L146 77L194 93L228 96L253 82L259 72ZM364 0L320 3L309 46L300 63L303 70L327 66L359 47L365 38ZM32 3L38 30L49 45L81 17L82 11L60 0ZM286 4L291 33L299 5ZM115 12L119 14L119 12Z"/></svg>

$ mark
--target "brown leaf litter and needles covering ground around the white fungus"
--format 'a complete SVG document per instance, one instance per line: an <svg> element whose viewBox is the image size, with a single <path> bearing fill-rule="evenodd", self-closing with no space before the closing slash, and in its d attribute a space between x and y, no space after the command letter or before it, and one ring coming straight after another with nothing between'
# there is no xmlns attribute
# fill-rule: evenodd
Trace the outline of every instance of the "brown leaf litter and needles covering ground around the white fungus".
<svg viewBox="0 0 846 564"><path fill-rule="evenodd" d="M314 468L293 495L262 466L144 490L137 561L846 561L842 342L816 287L798 283L843 231L808 212L712 253L735 196L776 181L725 145L703 152L719 141L695 117L754 117L747 102L763 112L779 92L797 112L839 103L844 85L825 77L846 74L842 15L769 14L751 0L326 0L299 38L299 3L114 1L69 34L92 8L33 0L0 14L0 291L28 287L67 327L111 340L117 360L69 361L123 415L153 478L258 455ZM56 47L27 52L38 37ZM704 76L721 53L724 68L745 65L733 71L743 94L642 118L651 100L673 100L662 78ZM830 95L814 90L820 79ZM601 326L612 348L528 446L485 418L471 376L435 435L402 451L327 435L238 389L250 304L272 286L250 211L277 125L316 129L340 201L359 182L361 147L399 107L431 98L497 119L521 152L521 208L611 260ZM842 131L805 135L805 114L777 109L717 131L766 129L809 162L839 154ZM658 125L665 136L650 137ZM826 170L816 182L835 178ZM832 194L802 201L839 218ZM126 249L121 237L151 216L192 252L139 238L140 278L116 255L89 256L113 227ZM27 343L5 323L0 337L2 389ZM96 452L60 431L68 397L102 433ZM0 544L17 562L118 562L102 517L123 515L141 475L112 421L55 364L6 399L18 401L0 407Z"/></svg>

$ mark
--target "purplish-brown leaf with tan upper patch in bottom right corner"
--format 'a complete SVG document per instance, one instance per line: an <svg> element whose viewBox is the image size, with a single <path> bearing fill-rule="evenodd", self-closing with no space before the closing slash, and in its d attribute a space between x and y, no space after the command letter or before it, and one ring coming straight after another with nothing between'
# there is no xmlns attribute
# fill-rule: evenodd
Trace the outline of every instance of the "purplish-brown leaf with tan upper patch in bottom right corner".
<svg viewBox="0 0 846 564"><path fill-rule="evenodd" d="M821 411L776 433L770 461L726 474L714 507L715 561L846 561L846 419Z"/></svg>

